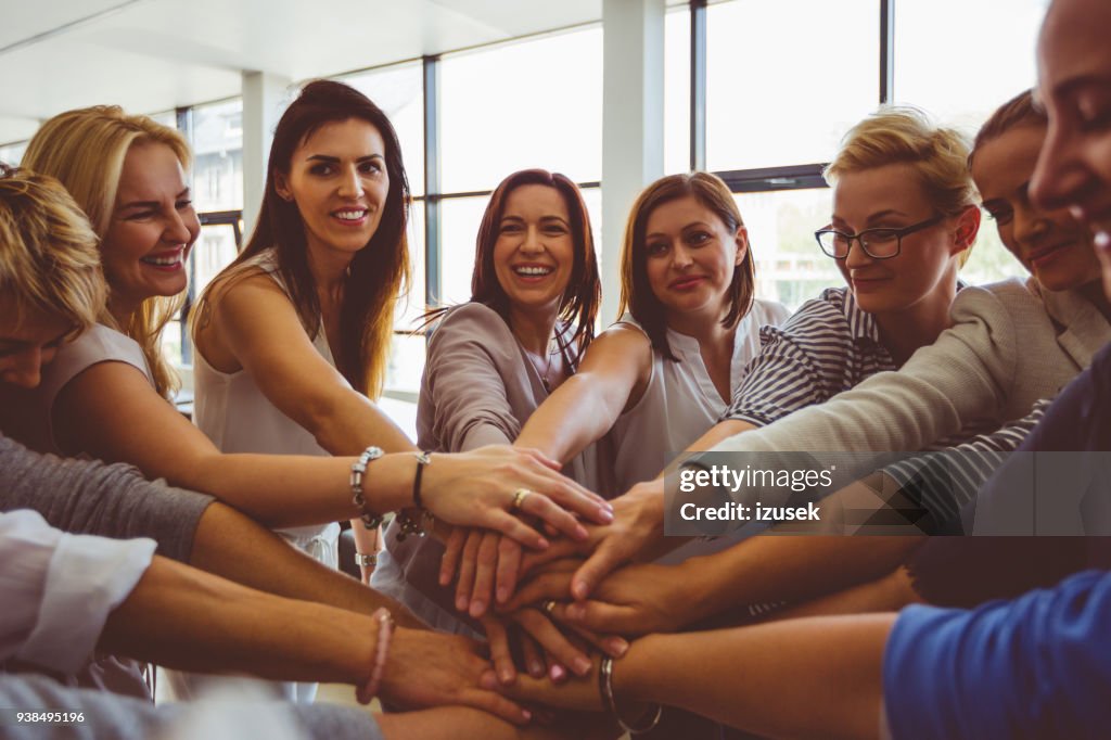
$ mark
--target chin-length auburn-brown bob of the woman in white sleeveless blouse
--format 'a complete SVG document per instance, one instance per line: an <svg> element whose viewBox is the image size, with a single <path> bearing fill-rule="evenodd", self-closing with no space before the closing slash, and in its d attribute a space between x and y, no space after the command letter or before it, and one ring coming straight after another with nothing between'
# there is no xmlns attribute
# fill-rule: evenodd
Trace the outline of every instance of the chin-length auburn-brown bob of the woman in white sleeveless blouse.
<svg viewBox="0 0 1111 740"><path fill-rule="evenodd" d="M648 186L637 198L625 224L624 243L621 248L621 301L618 316L632 313L644 329L652 347L669 360L678 361L668 343L667 309L652 292L648 281L648 249L644 243L648 219L663 203L680 198L692 197L721 219L730 233L744 226L741 212L733 200L729 186L717 174L689 172L669 174ZM729 311L721 320L727 329L737 323L752 308L755 292L755 263L751 246L741 263L733 268L733 280L729 286Z"/></svg>

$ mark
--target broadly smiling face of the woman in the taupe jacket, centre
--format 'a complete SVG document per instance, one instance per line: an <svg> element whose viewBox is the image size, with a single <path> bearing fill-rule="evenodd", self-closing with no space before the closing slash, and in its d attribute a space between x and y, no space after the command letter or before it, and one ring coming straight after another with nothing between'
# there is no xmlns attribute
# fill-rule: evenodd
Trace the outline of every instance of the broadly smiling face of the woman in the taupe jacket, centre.
<svg viewBox="0 0 1111 740"><path fill-rule="evenodd" d="M571 217L559 190L526 184L506 198L493 268L516 310L559 310L574 268Z"/></svg>

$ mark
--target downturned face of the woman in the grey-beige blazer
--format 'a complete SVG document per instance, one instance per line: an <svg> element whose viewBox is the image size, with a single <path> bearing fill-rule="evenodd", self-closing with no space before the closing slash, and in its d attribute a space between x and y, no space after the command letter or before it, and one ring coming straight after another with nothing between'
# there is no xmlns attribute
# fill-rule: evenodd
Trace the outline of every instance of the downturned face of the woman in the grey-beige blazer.
<svg viewBox="0 0 1111 740"><path fill-rule="evenodd" d="M999 238L1038 281L1067 290L1098 280L1099 261L1083 224L1067 209L1044 211L1030 202L1030 176L1045 140L1045 128L1020 126L982 143L972 177Z"/></svg>

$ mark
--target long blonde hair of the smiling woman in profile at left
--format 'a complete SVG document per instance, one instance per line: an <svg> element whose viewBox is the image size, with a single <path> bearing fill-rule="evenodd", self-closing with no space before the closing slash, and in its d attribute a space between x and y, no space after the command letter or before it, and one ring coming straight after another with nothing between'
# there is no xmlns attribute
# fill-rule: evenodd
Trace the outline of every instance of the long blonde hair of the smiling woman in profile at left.
<svg viewBox="0 0 1111 740"><path fill-rule="evenodd" d="M123 160L137 143L169 147L187 169L192 159L189 144L173 129L147 116L128 116L118 106L94 106L60 113L43 123L28 143L23 164L58 178L103 240L116 208ZM112 278L110 274L107 278L111 290ZM178 387L177 374L162 357L162 329L184 298L183 292L169 298L148 298L124 326L119 326L109 313L107 301L100 314L101 323L119 329L139 343L150 364L154 387L162 396L170 396Z"/></svg>

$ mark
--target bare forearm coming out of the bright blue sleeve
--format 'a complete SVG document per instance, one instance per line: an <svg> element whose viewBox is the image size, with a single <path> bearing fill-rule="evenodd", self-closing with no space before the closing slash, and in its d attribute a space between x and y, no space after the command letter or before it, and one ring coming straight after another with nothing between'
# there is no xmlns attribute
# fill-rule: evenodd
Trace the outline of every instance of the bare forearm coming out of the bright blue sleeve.
<svg viewBox="0 0 1111 740"><path fill-rule="evenodd" d="M875 737L894 614L801 619L633 643L619 699L681 707L771 737Z"/></svg>

